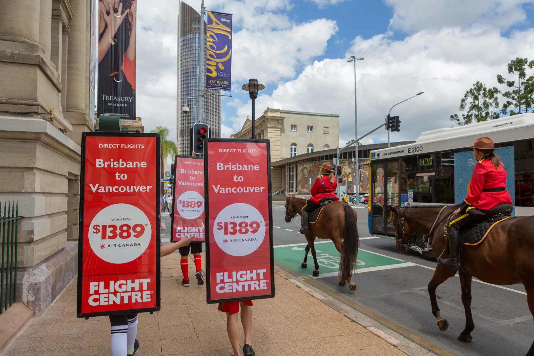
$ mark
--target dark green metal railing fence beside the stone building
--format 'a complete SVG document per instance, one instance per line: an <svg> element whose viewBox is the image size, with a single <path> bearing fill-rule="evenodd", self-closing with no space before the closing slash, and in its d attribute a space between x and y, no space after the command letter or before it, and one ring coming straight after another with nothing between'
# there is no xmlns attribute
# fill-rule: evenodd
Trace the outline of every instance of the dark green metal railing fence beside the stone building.
<svg viewBox="0 0 534 356"><path fill-rule="evenodd" d="M2 239L2 269L0 270L0 314L15 303L17 288L17 246L19 203L0 203L0 238Z"/></svg>

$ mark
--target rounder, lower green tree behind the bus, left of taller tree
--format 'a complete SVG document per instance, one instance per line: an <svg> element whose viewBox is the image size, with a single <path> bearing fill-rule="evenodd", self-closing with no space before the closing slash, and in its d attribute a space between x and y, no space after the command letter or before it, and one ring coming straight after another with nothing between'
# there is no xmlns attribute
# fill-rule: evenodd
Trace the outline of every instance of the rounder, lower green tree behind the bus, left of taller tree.
<svg viewBox="0 0 534 356"><path fill-rule="evenodd" d="M486 88L485 84L476 82L473 88L470 88L460 100L461 117L458 114L451 115L451 121L460 125L468 125L473 121L481 122L490 119L491 109L499 109L499 101L497 95L500 93L499 89Z"/></svg>

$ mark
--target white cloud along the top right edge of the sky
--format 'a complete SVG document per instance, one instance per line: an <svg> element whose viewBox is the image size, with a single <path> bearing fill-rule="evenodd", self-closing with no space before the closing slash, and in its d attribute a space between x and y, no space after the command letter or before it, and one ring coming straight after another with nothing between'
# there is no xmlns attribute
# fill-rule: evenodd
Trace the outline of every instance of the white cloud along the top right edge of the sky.
<svg viewBox="0 0 534 356"><path fill-rule="evenodd" d="M507 29L525 20L522 6L532 0L386 0L386 4L394 9L390 25L413 33L474 23Z"/></svg>

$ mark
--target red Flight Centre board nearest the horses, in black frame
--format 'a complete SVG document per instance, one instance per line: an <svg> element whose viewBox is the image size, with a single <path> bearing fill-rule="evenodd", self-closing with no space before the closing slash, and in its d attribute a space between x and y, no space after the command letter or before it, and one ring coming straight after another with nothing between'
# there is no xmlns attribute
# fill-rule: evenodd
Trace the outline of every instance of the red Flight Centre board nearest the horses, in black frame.
<svg viewBox="0 0 534 356"><path fill-rule="evenodd" d="M269 140L205 140L207 303L274 297Z"/></svg>

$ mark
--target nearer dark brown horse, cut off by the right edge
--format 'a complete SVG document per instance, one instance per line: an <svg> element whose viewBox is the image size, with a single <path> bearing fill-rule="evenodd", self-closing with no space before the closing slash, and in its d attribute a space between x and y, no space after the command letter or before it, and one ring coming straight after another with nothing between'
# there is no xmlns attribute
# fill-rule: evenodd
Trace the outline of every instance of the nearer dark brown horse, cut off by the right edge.
<svg viewBox="0 0 534 356"><path fill-rule="evenodd" d="M458 206L391 207L395 214L397 244L406 246L410 237L418 232L432 239L432 251L436 258L439 257L446 244L445 223ZM530 312L534 314L534 217L524 216L499 222L482 243L462 247L462 265L465 270L462 272L460 268L459 277L466 326L458 336L460 341L469 342L473 339L471 332L475 324L471 314L472 277L498 285L523 283ZM436 288L455 274L453 270L438 264L428 283L432 313L436 317L439 330L442 331L447 330L449 323L439 313ZM530 346L527 356L534 356L534 343Z"/></svg>

